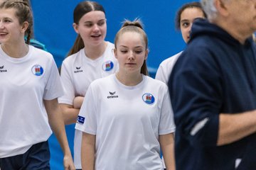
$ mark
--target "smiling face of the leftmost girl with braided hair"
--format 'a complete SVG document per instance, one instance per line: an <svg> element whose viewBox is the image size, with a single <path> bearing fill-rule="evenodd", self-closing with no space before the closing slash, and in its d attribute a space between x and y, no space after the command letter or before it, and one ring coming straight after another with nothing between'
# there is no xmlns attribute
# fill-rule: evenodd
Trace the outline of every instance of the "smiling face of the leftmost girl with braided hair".
<svg viewBox="0 0 256 170"><path fill-rule="evenodd" d="M0 43L16 43L23 40L24 33L23 26L16 17L15 8L1 8L0 9Z"/></svg>

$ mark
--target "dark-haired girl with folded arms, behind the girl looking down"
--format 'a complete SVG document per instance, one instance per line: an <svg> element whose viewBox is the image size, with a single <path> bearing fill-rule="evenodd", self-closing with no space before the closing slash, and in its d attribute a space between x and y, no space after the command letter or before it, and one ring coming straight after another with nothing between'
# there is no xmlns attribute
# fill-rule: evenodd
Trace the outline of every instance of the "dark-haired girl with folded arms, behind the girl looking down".
<svg viewBox="0 0 256 170"><path fill-rule="evenodd" d="M60 78L65 95L58 98L65 124L75 123L90 83L118 69L114 45L105 41L107 23L104 8L95 1L81 1L74 9L73 28L78 37L63 61ZM75 130L74 162L80 163L82 132Z"/></svg>

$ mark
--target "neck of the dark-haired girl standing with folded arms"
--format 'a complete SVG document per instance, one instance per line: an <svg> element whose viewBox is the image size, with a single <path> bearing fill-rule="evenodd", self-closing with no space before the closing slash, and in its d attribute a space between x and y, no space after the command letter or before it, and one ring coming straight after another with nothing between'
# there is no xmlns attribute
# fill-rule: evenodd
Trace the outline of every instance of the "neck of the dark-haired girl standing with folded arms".
<svg viewBox="0 0 256 170"><path fill-rule="evenodd" d="M107 47L107 42L103 41L100 45L92 46L92 45L85 45L85 55L92 59L96 60L97 58L101 57L105 52Z"/></svg>

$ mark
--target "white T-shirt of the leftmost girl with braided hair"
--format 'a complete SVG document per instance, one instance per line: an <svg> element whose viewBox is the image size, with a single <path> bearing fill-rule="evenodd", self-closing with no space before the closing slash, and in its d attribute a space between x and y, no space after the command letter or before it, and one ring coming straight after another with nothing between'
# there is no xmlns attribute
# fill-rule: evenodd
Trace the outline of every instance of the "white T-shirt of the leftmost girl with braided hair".
<svg viewBox="0 0 256 170"><path fill-rule="evenodd" d="M43 100L63 95L50 53L31 45L21 58L0 47L0 158L25 153L52 134Z"/></svg>

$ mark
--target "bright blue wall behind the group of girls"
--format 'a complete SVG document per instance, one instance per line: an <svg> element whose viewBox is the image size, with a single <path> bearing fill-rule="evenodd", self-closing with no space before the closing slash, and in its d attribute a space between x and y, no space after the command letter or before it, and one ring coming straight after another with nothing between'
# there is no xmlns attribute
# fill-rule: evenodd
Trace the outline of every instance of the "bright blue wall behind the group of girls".
<svg viewBox="0 0 256 170"><path fill-rule="evenodd" d="M78 0L31 0L34 16L34 34L36 40L46 45L60 67L68 50L76 38L73 30L73 9ZM151 77L161 61L180 52L185 43L174 28L176 11L188 0L98 0L105 8L107 18L106 40L113 42L114 35L122 25L124 18L141 18L144 30L149 38L149 57L147 65ZM66 126L68 141L73 153L74 125ZM51 169L63 169L63 154L55 136L50 137Z"/></svg>

